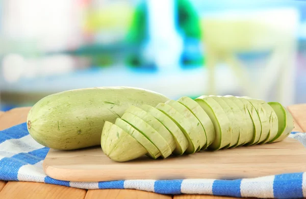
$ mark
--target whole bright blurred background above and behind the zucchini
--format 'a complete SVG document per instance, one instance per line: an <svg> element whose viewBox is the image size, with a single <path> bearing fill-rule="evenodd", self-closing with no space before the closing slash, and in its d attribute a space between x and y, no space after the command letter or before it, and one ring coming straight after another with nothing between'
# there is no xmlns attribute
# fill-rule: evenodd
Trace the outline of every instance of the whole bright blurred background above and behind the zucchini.
<svg viewBox="0 0 306 199"><path fill-rule="evenodd" d="M306 3L0 1L0 110L101 86L306 103Z"/></svg>

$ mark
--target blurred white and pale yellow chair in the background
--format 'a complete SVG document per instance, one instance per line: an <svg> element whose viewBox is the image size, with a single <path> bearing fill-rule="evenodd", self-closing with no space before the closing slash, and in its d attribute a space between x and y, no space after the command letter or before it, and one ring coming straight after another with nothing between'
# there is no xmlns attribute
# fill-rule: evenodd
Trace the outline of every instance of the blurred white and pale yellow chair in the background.
<svg viewBox="0 0 306 199"><path fill-rule="evenodd" d="M297 23L295 9L237 11L203 17L201 26L209 71L209 94L216 94L215 67L224 61L238 78L243 95L266 99L276 83L275 100L285 106L293 104ZM249 74L235 54L270 50L268 64L258 79L251 82L250 78L256 74Z"/></svg>

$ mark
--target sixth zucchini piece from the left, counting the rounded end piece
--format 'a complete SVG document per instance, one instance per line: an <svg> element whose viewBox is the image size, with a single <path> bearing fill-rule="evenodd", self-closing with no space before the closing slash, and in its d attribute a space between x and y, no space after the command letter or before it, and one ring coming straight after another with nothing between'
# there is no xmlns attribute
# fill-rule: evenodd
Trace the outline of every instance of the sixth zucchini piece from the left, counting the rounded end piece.
<svg viewBox="0 0 306 199"><path fill-rule="evenodd" d="M194 154L200 146L198 134L194 131L190 122L181 113L176 111L170 105L160 103L156 106L157 109L171 118L175 124L181 129L188 140L188 147L185 151L186 154Z"/></svg>

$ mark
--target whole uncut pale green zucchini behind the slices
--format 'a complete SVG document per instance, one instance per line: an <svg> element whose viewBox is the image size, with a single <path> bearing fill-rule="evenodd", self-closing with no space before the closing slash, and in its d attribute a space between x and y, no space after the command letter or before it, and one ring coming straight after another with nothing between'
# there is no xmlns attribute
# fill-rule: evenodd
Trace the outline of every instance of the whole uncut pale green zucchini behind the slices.
<svg viewBox="0 0 306 199"><path fill-rule="evenodd" d="M100 145L105 121L115 122L131 105L156 106L166 96L133 87L64 91L37 102L28 114L28 131L40 144L56 150Z"/></svg>

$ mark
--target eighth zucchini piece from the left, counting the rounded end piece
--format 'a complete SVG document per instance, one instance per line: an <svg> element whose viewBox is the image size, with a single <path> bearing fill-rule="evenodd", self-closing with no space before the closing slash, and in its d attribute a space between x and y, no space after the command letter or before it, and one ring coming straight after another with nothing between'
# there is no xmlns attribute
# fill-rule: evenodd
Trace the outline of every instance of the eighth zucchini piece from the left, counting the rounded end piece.
<svg viewBox="0 0 306 199"><path fill-rule="evenodd" d="M206 133L207 143L201 148L202 150L205 150L216 139L215 128L212 120L209 118L208 114L200 107L200 105L196 103L192 98L184 96L177 99L177 102L186 106L200 121Z"/></svg>

